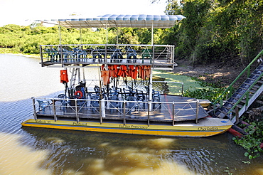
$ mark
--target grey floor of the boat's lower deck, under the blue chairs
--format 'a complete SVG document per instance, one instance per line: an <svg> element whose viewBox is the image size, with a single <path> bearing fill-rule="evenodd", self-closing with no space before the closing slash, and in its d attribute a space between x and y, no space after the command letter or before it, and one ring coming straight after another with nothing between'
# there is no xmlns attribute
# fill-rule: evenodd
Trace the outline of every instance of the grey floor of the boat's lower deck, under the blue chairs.
<svg viewBox="0 0 263 175"><path fill-rule="evenodd" d="M171 102L171 103L167 103ZM174 103L173 103L174 102ZM181 102L181 103L179 103ZM183 103L185 102L185 103ZM152 110L148 110L148 104L145 107L139 103L137 109L114 108L113 112L105 107L104 112L100 112L98 108L90 106L90 101L87 101L82 107L75 107L75 105L67 105L66 110L63 112L63 107L60 106L60 101L55 102L54 107L45 107L36 113L37 119L53 119L57 120L98 120L102 117L103 120L136 120L154 122L171 122L171 121L186 121L196 120L196 105L195 99L189 97L181 97L175 95L161 95L161 102L159 104L152 104ZM77 108L77 109L76 109ZM174 109L174 110L173 110ZM77 111L77 112L76 112ZM174 115L174 118L173 118ZM198 106L198 119L207 117L208 113L201 105Z"/></svg>

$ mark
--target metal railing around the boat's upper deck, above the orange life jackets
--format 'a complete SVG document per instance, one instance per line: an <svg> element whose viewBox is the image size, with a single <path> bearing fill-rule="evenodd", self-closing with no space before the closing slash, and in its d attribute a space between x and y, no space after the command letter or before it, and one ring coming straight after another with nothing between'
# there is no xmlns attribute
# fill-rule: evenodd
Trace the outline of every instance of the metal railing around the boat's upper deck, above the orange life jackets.
<svg viewBox="0 0 263 175"><path fill-rule="evenodd" d="M162 69L174 65L174 46L171 45L41 45L40 53L42 66L126 64Z"/></svg>

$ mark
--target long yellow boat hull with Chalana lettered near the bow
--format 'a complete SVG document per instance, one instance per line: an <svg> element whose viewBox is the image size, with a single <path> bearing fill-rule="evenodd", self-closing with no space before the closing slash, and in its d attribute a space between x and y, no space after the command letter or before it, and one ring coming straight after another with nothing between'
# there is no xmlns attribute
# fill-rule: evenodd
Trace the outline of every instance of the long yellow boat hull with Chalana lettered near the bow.
<svg viewBox="0 0 263 175"><path fill-rule="evenodd" d="M206 118L198 124L121 124L112 122L73 122L73 121L54 121L54 120L27 120L22 123L23 127L44 127L53 129L70 129L91 132L109 132L119 134L142 134L159 135L173 137L209 137L215 134L222 134L232 127L229 120ZM206 121L207 120L207 121ZM209 121L210 120L210 121ZM218 120L219 124L213 124L213 120ZM220 124L220 121L225 121Z"/></svg>

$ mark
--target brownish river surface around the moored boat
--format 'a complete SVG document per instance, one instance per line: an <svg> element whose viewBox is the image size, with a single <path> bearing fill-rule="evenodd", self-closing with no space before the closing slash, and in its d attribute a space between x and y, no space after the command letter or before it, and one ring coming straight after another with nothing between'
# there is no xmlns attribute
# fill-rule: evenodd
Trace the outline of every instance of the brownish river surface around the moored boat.
<svg viewBox="0 0 263 175"><path fill-rule="evenodd" d="M60 71L38 58L0 54L0 174L263 174L229 133L150 137L21 127L31 97L63 92Z"/></svg>

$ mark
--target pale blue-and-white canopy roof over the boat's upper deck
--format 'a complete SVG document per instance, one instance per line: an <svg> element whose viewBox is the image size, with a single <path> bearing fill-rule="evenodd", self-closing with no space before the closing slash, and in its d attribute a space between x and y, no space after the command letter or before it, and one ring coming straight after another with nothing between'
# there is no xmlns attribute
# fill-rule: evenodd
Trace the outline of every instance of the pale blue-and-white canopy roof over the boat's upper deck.
<svg viewBox="0 0 263 175"><path fill-rule="evenodd" d="M116 15L107 14L96 18L66 18L53 19L60 26L67 28L106 28L106 27L132 27L132 28L171 28L177 21L186 18L182 15Z"/></svg>

